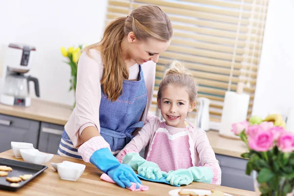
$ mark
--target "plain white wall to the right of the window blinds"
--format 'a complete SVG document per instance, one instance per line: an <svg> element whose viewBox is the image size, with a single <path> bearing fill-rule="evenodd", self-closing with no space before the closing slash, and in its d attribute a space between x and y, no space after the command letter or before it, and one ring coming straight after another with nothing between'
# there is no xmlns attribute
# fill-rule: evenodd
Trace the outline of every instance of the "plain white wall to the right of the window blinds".
<svg viewBox="0 0 294 196"><path fill-rule="evenodd" d="M252 114L294 107L293 10L293 0L270 0Z"/></svg>

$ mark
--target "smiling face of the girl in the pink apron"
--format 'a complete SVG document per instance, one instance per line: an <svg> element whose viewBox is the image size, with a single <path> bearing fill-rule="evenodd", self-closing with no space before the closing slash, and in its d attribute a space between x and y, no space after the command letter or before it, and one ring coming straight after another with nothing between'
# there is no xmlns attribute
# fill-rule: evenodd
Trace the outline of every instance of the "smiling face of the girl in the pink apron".
<svg viewBox="0 0 294 196"><path fill-rule="evenodd" d="M187 91L179 86L168 85L161 95L161 99L157 98L157 104L166 124L185 128L185 118L188 112L193 111L196 102L190 103Z"/></svg>

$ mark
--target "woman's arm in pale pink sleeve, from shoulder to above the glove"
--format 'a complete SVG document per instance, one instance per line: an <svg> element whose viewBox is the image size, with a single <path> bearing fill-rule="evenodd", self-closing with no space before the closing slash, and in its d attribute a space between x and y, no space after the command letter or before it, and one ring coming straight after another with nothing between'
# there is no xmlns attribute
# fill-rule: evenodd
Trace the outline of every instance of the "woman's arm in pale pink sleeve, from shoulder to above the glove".
<svg viewBox="0 0 294 196"><path fill-rule="evenodd" d="M99 107L101 100L100 78L103 64L98 50L84 51L78 62L75 106L75 128L83 142L100 136Z"/></svg>

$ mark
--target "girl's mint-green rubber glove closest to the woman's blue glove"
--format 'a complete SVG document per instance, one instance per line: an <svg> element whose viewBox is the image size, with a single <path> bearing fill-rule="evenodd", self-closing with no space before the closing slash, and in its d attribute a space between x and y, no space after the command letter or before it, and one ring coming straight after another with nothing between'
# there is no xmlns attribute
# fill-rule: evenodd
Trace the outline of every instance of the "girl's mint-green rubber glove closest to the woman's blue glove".
<svg viewBox="0 0 294 196"><path fill-rule="evenodd" d="M137 152L127 153L123 157L123 163L131 166L133 170L138 171L138 174L147 178L154 180L162 178L162 172L156 163L145 160Z"/></svg>

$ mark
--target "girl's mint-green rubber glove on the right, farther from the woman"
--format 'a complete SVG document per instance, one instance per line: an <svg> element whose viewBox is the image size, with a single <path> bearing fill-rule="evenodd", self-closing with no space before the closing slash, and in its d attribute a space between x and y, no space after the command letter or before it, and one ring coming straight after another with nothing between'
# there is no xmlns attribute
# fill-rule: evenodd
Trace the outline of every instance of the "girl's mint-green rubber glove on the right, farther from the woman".
<svg viewBox="0 0 294 196"><path fill-rule="evenodd" d="M188 185L193 181L211 183L213 173L208 167L191 167L170 171L166 178L171 185Z"/></svg>

